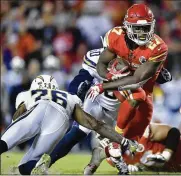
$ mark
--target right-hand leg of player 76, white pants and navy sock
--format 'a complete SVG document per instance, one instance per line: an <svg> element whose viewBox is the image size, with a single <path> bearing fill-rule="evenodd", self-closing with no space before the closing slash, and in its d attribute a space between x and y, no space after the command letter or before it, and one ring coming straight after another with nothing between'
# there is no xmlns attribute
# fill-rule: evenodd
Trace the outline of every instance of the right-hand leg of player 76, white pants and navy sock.
<svg viewBox="0 0 181 176"><path fill-rule="evenodd" d="M68 127L69 119L65 114L49 105L41 124L41 133L35 138L31 148L20 162L20 173L30 174L41 156L44 153L52 152L57 142L65 135ZM33 161L35 162L32 164Z"/></svg>

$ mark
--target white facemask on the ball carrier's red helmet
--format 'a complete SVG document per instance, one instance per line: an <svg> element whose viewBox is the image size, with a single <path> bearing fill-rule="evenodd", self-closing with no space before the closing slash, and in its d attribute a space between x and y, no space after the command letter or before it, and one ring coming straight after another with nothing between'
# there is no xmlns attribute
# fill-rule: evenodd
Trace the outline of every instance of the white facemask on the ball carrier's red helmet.
<svg viewBox="0 0 181 176"><path fill-rule="evenodd" d="M143 20L139 20L143 21ZM134 41L136 44L142 46L148 43L154 35L155 20L153 22L144 23L129 23L124 21L124 26L127 31L128 38Z"/></svg>

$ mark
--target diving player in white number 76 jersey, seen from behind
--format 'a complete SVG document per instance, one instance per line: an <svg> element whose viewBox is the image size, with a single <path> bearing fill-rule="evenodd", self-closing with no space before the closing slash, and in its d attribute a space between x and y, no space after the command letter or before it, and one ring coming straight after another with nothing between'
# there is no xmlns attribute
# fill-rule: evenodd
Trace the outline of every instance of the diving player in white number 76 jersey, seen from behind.
<svg viewBox="0 0 181 176"><path fill-rule="evenodd" d="M82 102L77 95L58 90L58 84L52 76L38 76L29 91L17 96L14 122L1 137L0 154L36 136L19 165L21 174L30 174L40 157L44 153L49 154L65 135L71 117L112 141L129 146L127 139L84 112L81 106Z"/></svg>

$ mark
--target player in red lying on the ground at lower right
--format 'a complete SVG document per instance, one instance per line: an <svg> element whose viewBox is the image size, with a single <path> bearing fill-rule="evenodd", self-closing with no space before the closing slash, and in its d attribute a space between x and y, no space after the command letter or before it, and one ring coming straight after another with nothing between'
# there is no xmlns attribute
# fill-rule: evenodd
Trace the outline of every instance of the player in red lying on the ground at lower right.
<svg viewBox="0 0 181 176"><path fill-rule="evenodd" d="M150 123L138 142L144 146L142 152L135 153L131 158L123 155L130 173L154 170L155 168L162 171L181 171L181 138L177 128L165 124ZM109 152L105 150L108 155L112 154L111 156L113 156L118 153L117 146L109 150ZM108 157L109 164L115 167L115 159Z"/></svg>

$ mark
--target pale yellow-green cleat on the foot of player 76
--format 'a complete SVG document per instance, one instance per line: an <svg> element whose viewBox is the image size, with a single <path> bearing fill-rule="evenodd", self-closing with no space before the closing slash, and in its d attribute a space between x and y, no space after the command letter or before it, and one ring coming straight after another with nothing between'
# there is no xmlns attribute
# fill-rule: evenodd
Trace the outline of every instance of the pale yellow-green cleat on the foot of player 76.
<svg viewBox="0 0 181 176"><path fill-rule="evenodd" d="M35 168L31 171L31 175L48 175L48 168L50 166L50 162L50 156L45 153L36 163Z"/></svg>

